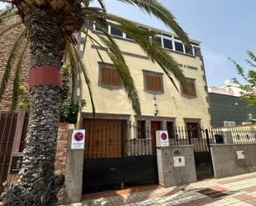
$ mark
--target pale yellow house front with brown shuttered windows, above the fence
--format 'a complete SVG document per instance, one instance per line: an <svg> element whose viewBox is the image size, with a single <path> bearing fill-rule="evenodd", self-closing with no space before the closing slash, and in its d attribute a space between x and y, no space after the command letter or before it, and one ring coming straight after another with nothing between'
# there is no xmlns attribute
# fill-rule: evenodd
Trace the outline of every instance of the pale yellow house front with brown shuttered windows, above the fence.
<svg viewBox="0 0 256 206"><path fill-rule="evenodd" d="M144 25L139 26L156 30ZM95 26L94 30L100 35L100 31ZM181 88L176 81L176 85L181 90L181 93L178 93L161 67L152 63L132 39L111 26L108 27L108 30L111 35L116 37L115 40L123 51L133 76L141 101L142 116L136 117L133 113L133 108L128 102L118 73L105 48L94 46L88 41L83 60L88 69L89 79L91 79L97 117L91 119L93 116L89 104L89 93L87 89L83 89L81 95L88 104L87 107L82 108L81 119L89 118L89 120L85 120L87 124L94 124L99 119L107 119L105 122L101 121L101 124L111 122L112 120L109 119L113 119L113 122L125 121L142 130L141 133L136 132L136 129L131 129L129 138L151 138L154 136L152 131L171 130L174 126L189 128L210 126L207 84L200 54L200 41L191 40L192 50L188 50L174 34L157 30L159 35L155 38L181 65L181 69L191 84L191 90L187 91ZM98 40L97 36L94 38ZM101 63L97 50L104 59L104 63L107 64ZM198 137L196 133L194 135Z"/></svg>

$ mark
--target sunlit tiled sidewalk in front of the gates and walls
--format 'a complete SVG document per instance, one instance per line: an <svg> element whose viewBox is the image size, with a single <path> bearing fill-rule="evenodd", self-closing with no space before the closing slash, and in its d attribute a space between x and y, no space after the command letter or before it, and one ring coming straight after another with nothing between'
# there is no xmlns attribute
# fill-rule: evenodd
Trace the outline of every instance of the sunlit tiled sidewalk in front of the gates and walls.
<svg viewBox="0 0 256 206"><path fill-rule="evenodd" d="M256 206L256 172L167 189L150 185L89 194L84 199L69 206Z"/></svg>

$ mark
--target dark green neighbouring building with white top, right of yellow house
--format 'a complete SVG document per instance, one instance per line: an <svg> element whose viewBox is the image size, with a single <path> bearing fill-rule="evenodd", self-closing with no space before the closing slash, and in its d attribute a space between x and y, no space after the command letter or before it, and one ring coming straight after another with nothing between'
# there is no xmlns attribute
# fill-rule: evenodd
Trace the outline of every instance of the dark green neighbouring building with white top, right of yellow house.
<svg viewBox="0 0 256 206"><path fill-rule="evenodd" d="M256 118L256 108L240 99L239 85L225 81L225 86L209 88L211 124L230 127L250 124Z"/></svg>

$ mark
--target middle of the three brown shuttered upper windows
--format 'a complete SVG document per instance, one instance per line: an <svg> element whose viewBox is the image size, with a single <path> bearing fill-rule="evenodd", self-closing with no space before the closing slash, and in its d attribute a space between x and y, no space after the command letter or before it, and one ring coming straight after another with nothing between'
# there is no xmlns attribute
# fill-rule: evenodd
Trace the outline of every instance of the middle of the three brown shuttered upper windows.
<svg viewBox="0 0 256 206"><path fill-rule="evenodd" d="M163 92L162 74L145 72L144 83L147 91Z"/></svg>

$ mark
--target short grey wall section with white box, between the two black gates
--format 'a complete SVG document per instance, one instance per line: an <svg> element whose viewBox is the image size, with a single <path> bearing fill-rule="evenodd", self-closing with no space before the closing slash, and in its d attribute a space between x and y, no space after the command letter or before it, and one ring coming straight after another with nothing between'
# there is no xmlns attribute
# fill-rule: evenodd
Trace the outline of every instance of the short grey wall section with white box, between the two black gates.
<svg viewBox="0 0 256 206"><path fill-rule="evenodd" d="M157 165L159 184L164 187L196 182L193 146L157 147Z"/></svg>

